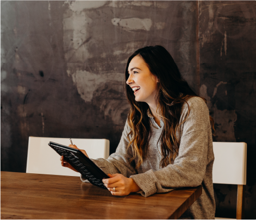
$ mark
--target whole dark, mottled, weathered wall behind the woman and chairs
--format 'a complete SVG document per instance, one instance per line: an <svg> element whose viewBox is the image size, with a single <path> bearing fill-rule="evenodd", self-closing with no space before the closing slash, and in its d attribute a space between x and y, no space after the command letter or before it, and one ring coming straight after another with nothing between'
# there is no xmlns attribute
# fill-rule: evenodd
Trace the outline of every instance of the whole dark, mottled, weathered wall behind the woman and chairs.
<svg viewBox="0 0 256 220"><path fill-rule="evenodd" d="M0 0L0 170L26 171L28 136L106 138L113 153L126 60L160 44L208 99L215 141L247 142L256 218L255 1L223 2ZM235 217L236 187L214 187L216 216Z"/></svg>

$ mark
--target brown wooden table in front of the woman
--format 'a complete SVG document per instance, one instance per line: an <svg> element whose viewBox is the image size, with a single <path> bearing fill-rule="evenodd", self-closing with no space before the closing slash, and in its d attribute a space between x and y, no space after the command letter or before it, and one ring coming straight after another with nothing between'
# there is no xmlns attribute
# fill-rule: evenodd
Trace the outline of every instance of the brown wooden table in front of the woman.
<svg viewBox="0 0 256 220"><path fill-rule="evenodd" d="M112 196L79 177L0 172L0 219L177 219L202 186Z"/></svg>

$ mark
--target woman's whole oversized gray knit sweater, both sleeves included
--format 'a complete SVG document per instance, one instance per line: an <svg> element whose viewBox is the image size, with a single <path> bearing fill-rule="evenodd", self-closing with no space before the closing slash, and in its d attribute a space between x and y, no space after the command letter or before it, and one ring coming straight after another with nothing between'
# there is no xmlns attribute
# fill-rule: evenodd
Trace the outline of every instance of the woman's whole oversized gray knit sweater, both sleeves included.
<svg viewBox="0 0 256 220"><path fill-rule="evenodd" d="M179 127L177 137L180 141L179 154L173 164L159 168L161 155L160 143L157 142L163 127L152 126L152 137L149 140L146 159L139 169L135 169L136 160L129 163L133 150L128 145L127 134L130 128L126 122L123 134L116 149L107 160L93 160L105 173L121 173L133 178L141 188L144 197L154 193L168 192L177 187L203 186L202 195L186 210L179 219L207 220L214 219L215 200L213 191L213 140L211 134L209 110L202 98L193 97L188 100L190 114L184 124ZM188 105L182 107L180 122L188 113ZM82 181L86 179L82 176Z"/></svg>

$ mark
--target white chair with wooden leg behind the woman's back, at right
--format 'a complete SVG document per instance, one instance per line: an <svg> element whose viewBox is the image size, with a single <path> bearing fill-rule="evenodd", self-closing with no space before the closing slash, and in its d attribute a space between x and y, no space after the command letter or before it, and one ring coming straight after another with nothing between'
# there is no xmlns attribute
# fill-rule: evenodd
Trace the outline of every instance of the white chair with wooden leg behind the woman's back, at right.
<svg viewBox="0 0 256 220"><path fill-rule="evenodd" d="M238 185L236 220L243 219L243 185L246 185L247 144L244 142L213 142L213 183ZM231 220L215 218L215 220ZM235 219L232 219L235 220Z"/></svg>

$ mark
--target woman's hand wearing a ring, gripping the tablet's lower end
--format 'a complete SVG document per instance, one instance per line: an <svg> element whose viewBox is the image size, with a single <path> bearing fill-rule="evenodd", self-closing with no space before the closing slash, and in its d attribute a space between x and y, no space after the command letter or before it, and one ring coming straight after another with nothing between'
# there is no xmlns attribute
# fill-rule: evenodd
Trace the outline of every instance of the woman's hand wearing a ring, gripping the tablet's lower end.
<svg viewBox="0 0 256 220"><path fill-rule="evenodd" d="M120 173L108 174L109 179L103 179L105 187L115 196L127 196L131 192L140 191L140 187L134 182L132 178L124 177ZM115 187L115 192L113 187Z"/></svg>

